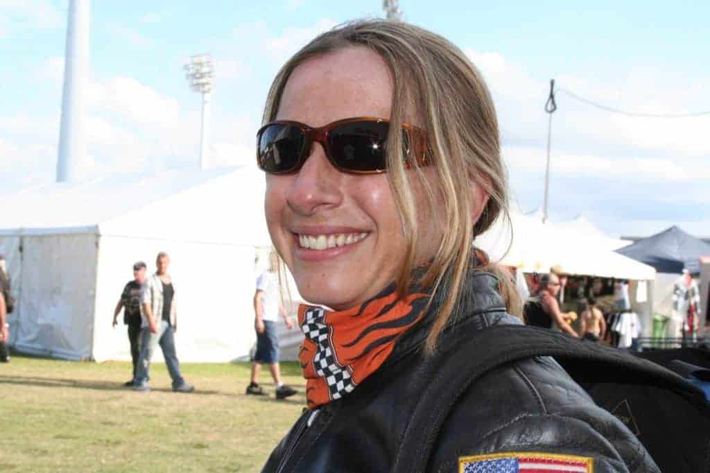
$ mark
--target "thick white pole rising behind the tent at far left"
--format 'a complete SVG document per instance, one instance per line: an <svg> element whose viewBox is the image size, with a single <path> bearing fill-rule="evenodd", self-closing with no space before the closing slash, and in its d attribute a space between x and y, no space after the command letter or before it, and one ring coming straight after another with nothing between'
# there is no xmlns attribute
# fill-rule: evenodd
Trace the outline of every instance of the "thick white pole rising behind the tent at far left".
<svg viewBox="0 0 710 473"><path fill-rule="evenodd" d="M90 0L70 0L64 55L62 121L59 131L57 182L80 176L84 160L84 80L88 53Z"/></svg>

